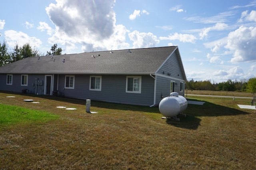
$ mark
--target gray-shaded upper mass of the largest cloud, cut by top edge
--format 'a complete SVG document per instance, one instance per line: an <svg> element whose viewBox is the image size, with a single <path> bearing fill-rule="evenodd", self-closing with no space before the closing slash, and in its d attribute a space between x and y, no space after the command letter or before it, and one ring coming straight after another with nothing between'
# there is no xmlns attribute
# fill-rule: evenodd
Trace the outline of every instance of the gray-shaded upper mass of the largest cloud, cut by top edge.
<svg viewBox="0 0 256 170"><path fill-rule="evenodd" d="M94 40L109 38L114 33L116 22L112 10L114 0L56 0L56 4L46 7L56 30L71 39Z"/></svg>

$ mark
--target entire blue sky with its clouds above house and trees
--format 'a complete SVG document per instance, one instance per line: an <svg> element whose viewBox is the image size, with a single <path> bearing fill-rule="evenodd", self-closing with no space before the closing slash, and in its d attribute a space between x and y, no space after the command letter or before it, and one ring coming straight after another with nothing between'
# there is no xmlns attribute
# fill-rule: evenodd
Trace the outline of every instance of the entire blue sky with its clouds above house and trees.
<svg viewBox="0 0 256 170"><path fill-rule="evenodd" d="M44 54L178 45L188 81L256 76L256 0L6 0L0 34Z"/></svg>

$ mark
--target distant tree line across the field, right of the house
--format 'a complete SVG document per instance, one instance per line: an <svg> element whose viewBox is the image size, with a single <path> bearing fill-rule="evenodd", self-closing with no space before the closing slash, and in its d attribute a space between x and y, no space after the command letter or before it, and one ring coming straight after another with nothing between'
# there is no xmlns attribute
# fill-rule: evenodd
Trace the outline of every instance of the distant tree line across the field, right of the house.
<svg viewBox="0 0 256 170"><path fill-rule="evenodd" d="M211 91L239 91L256 93L256 77L249 80L243 79L241 81L223 81L221 83L211 83L210 80L205 81L186 81L185 89L188 90L211 90Z"/></svg>

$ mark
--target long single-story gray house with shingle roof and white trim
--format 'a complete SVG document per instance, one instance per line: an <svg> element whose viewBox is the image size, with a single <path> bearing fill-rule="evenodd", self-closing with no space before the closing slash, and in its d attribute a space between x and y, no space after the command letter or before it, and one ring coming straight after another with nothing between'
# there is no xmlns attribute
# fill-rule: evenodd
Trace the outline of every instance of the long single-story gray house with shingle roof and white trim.
<svg viewBox="0 0 256 170"><path fill-rule="evenodd" d="M0 91L154 106L184 96L178 46L28 57L0 67Z"/></svg>

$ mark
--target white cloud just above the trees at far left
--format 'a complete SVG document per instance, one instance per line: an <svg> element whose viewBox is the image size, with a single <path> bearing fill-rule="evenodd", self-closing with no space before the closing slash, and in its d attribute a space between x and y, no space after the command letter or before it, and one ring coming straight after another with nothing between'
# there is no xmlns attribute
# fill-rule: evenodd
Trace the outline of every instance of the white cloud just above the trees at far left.
<svg viewBox="0 0 256 170"><path fill-rule="evenodd" d="M40 47L42 44L41 40L30 37L27 34L23 32L16 32L14 30L8 30L4 32L5 39L11 47L14 47L16 43L18 43L20 46L29 43L31 47Z"/></svg>

